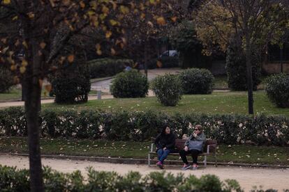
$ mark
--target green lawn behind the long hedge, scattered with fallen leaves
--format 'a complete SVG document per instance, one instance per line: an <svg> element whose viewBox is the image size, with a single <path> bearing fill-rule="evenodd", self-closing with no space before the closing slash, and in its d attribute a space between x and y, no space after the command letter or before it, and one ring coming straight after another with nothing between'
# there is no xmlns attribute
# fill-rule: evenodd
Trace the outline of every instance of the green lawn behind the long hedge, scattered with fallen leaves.
<svg viewBox="0 0 289 192"><path fill-rule="evenodd" d="M289 115L289 109L277 108L264 91L254 93L255 113ZM212 95L184 95L177 106L163 106L156 97L91 100L85 104L43 104L42 109L102 109L105 111L163 111L166 113L242 113L248 114L246 92L218 92Z"/></svg>

